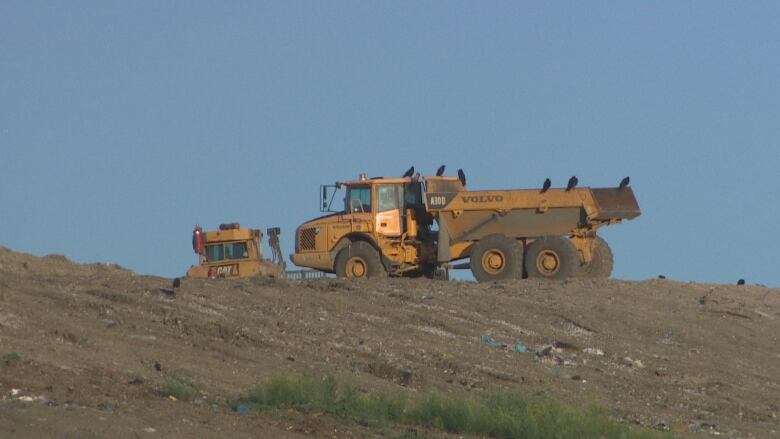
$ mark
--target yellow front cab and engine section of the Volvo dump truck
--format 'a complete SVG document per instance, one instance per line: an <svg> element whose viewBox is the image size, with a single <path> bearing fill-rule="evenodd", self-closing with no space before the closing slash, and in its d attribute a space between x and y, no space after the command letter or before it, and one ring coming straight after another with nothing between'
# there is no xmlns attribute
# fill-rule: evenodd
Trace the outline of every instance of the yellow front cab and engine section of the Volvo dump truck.
<svg viewBox="0 0 780 439"><path fill-rule="evenodd" d="M343 204L337 201L339 193ZM423 274L435 262L432 218L425 210L423 193L423 182L411 177L361 175L357 180L323 185L320 210L328 214L298 227L290 259L299 266L347 277L381 274L378 269L393 275ZM370 260L361 256L339 260L350 246L360 255L372 251L377 255Z"/></svg>

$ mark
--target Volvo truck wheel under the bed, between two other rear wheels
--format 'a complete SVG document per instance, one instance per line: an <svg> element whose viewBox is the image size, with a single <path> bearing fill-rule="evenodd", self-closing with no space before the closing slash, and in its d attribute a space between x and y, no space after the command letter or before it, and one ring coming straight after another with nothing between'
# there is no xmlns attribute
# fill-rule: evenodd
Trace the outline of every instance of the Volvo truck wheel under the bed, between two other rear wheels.
<svg viewBox="0 0 780 439"><path fill-rule="evenodd" d="M525 271L528 277L568 279L577 273L580 257L577 248L566 238L542 236L528 246L525 252Z"/></svg>

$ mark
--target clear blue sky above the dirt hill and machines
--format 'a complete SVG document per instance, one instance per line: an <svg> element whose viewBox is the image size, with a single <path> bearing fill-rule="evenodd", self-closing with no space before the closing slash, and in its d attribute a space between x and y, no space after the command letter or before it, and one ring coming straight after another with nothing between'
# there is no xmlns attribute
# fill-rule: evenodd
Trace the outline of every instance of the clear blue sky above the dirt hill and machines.
<svg viewBox="0 0 780 439"><path fill-rule="evenodd" d="M195 223L464 168L615 185L614 276L780 286L780 3L0 3L0 245L181 275Z"/></svg>

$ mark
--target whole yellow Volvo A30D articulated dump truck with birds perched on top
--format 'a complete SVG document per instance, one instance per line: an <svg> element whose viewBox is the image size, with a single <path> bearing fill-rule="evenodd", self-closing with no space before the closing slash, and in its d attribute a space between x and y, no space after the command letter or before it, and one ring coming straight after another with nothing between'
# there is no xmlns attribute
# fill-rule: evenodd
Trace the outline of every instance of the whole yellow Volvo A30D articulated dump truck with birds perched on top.
<svg viewBox="0 0 780 439"><path fill-rule="evenodd" d="M321 211L295 233L290 259L339 277L446 276L478 281L609 277L613 257L599 228L640 215L628 177L617 187L469 191L466 176L367 178L320 187ZM330 191L332 194L329 194ZM333 209L338 190L344 205Z"/></svg>

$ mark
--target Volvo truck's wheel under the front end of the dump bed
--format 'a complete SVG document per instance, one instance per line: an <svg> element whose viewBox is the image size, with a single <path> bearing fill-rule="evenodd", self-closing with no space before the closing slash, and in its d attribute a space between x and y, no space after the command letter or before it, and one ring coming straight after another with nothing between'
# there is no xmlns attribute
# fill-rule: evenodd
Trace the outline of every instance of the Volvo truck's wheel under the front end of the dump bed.
<svg viewBox="0 0 780 439"><path fill-rule="evenodd" d="M523 246L504 235L489 235L471 250L471 272L479 282L523 277Z"/></svg>

